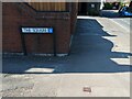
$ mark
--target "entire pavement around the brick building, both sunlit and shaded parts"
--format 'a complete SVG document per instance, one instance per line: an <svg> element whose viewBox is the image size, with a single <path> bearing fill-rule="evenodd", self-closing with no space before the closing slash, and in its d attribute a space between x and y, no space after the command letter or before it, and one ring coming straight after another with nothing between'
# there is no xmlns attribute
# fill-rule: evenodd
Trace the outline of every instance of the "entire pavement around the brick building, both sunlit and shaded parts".
<svg viewBox="0 0 132 99"><path fill-rule="evenodd" d="M3 97L130 97L130 33L78 16L69 56L3 55Z"/></svg>

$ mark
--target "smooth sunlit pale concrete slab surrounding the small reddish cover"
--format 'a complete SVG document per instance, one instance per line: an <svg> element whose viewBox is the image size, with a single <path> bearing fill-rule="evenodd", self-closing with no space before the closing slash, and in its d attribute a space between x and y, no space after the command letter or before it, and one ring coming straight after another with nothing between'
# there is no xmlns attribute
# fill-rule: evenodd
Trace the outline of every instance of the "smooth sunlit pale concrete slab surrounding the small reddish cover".
<svg viewBox="0 0 132 99"><path fill-rule="evenodd" d="M122 79L122 76L125 80ZM69 74L63 75L57 97L129 97L129 74ZM122 80L119 80L122 79ZM84 91L90 87L91 92Z"/></svg>

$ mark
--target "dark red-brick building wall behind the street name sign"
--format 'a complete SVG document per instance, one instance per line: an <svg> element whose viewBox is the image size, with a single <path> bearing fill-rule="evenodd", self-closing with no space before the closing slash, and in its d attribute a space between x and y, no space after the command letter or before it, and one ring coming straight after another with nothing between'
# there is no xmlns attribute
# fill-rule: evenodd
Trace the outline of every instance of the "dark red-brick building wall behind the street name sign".
<svg viewBox="0 0 132 99"><path fill-rule="evenodd" d="M54 43L57 54L68 54L76 14L59 11L35 12L22 2L4 2L2 15L3 53L23 53L20 26L52 26L56 43L53 34L24 34L28 54L53 54Z"/></svg>

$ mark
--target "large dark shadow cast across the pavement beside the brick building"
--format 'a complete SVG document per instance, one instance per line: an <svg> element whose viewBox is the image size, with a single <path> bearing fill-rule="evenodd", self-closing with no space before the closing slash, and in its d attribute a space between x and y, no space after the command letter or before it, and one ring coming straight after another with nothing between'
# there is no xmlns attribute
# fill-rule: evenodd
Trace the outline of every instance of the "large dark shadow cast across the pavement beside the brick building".
<svg viewBox="0 0 132 99"><path fill-rule="evenodd" d="M123 73L130 65L111 58L129 58L130 53L111 52L116 37L102 30L97 20L78 19L69 56L3 56L3 74Z"/></svg>

